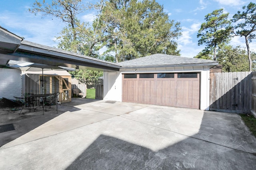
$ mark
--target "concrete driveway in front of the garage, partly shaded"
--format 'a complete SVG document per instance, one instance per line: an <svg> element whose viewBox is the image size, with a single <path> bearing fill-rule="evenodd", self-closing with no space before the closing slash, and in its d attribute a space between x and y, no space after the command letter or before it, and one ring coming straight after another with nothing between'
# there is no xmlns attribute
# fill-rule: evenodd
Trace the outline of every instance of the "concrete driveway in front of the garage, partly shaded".
<svg viewBox="0 0 256 170"><path fill-rule="evenodd" d="M86 99L59 108L0 147L0 169L255 169L256 138L234 113Z"/></svg>

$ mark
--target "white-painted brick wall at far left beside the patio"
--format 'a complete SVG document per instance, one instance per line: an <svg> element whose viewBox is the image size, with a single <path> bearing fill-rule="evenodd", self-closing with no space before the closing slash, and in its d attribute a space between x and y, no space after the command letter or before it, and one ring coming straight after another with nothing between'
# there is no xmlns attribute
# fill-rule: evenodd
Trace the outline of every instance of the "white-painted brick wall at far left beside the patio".
<svg viewBox="0 0 256 170"><path fill-rule="evenodd" d="M18 69L0 68L0 98L22 96L22 76Z"/></svg>

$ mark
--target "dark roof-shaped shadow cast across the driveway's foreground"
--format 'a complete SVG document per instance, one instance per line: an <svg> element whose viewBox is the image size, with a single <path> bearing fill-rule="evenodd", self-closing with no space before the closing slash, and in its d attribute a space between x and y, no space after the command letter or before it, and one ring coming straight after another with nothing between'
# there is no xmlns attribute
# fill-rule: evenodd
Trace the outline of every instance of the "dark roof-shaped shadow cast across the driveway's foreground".
<svg viewBox="0 0 256 170"><path fill-rule="evenodd" d="M232 127L236 128L232 129ZM164 138L169 139L172 145L152 150L110 135L100 135L66 169L254 170L255 168L256 139L248 132L241 119L234 119L232 114L205 111L198 133L192 136L174 132L168 127L156 128L157 130L148 128L152 138L160 139L156 139L159 141L156 145L161 146L161 141L166 143ZM169 129L169 132L153 135L154 131L164 129ZM174 142L173 138L180 140ZM138 140L140 139L141 137L138 137ZM149 143L151 141L152 139L148 139ZM156 148L161 147L156 146Z"/></svg>

